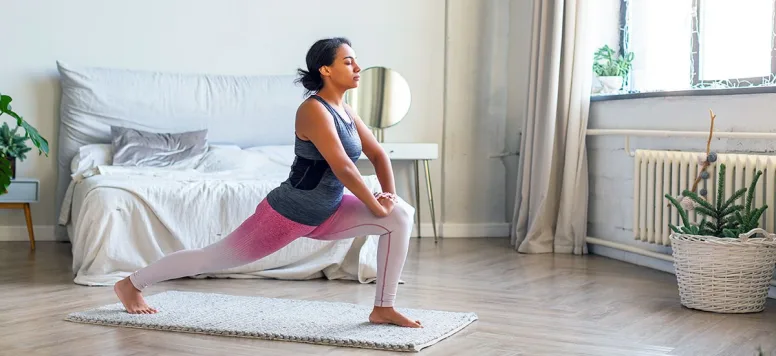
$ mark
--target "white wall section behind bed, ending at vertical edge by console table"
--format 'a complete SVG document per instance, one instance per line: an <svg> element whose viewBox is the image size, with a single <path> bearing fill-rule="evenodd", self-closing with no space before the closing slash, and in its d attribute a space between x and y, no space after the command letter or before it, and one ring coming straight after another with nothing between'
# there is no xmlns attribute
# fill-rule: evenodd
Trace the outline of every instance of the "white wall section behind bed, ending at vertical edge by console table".
<svg viewBox="0 0 776 356"><path fill-rule="evenodd" d="M52 147L49 158L33 154L17 170L18 176L42 182L41 202L32 207L40 240L52 238L57 210L56 60L183 72L294 73L305 65L315 40L347 36L362 67L394 68L412 88L410 112L386 132L386 141L442 145L444 0L4 0L1 11L0 92L13 96L14 110ZM441 166L441 160L431 166L437 209L444 201ZM395 170L402 195L411 199L410 165ZM421 197L427 223L428 203ZM23 226L20 211L0 211L0 240L26 239Z"/></svg>

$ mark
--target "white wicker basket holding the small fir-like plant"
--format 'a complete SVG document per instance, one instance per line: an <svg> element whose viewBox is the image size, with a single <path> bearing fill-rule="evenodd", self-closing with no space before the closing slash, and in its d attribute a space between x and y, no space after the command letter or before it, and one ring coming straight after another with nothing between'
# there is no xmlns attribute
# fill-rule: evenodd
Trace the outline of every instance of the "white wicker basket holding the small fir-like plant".
<svg viewBox="0 0 776 356"><path fill-rule="evenodd" d="M750 238L761 233L762 238ZM672 234L682 305L717 313L765 309L776 267L776 234L754 229L739 238Z"/></svg>

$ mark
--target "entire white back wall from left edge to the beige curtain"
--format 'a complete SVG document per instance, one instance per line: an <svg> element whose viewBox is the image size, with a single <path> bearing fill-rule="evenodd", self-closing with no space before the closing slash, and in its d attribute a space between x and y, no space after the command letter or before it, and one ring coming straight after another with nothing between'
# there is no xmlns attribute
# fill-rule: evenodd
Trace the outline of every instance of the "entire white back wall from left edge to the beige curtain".
<svg viewBox="0 0 776 356"><path fill-rule="evenodd" d="M18 167L19 176L42 181L42 201L33 206L37 237L50 238L55 223L56 60L184 72L293 73L304 66L312 42L328 36L349 37L362 67L391 67L409 82L410 112L385 132L385 140L440 145L441 159L431 164L440 233L507 236L518 157L490 156L519 149L532 2L449 3L446 9L444 0L358 6L341 0L244 0L219 6L203 0L6 0L0 33L13 34L3 38L4 53L13 55L2 57L0 92L14 97L15 110L52 147L51 157L31 156ZM360 168L373 172L368 165ZM397 163L394 169L400 194L414 200L412 166ZM423 177L420 184L428 236ZM23 224L21 212L0 211L0 240L25 239Z"/></svg>

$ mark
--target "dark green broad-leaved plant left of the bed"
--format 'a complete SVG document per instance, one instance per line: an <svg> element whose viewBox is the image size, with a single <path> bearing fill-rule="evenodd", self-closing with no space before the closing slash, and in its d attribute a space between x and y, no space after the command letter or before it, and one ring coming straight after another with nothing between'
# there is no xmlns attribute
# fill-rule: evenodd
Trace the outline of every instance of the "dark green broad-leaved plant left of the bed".
<svg viewBox="0 0 776 356"><path fill-rule="evenodd" d="M9 95L0 94L0 116L8 115L14 119L14 122L16 123L16 127L14 127L13 130L10 129L7 123L4 124L4 127L8 127L9 133L13 132L13 135L10 135L13 148L7 147L5 148L5 151L3 151L5 154L0 154L0 187L2 188L3 193L7 192L8 186L11 184L11 161L8 157L10 156L23 160L26 158L25 154L29 151L20 150L18 148L20 144L24 144L26 140L29 140L38 148L38 155L45 154L46 157L48 157L49 153L48 140L41 136L38 130L25 121L21 115L12 110L11 101L13 101L13 99ZM24 135L20 136L23 138L22 140L15 138L19 128L24 129ZM5 130L5 128L2 130ZM0 137L2 137L2 133L0 133ZM8 141L2 141L0 145L5 146L7 145L7 142ZM14 154L19 154L20 156L15 156Z"/></svg>

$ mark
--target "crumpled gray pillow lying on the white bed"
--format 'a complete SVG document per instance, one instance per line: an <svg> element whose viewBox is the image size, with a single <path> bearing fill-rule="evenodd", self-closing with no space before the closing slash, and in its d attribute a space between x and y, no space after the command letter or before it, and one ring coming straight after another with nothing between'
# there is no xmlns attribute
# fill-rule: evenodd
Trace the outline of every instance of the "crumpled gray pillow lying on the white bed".
<svg viewBox="0 0 776 356"><path fill-rule="evenodd" d="M111 126L114 166L194 168L207 152L207 129L154 133Z"/></svg>

